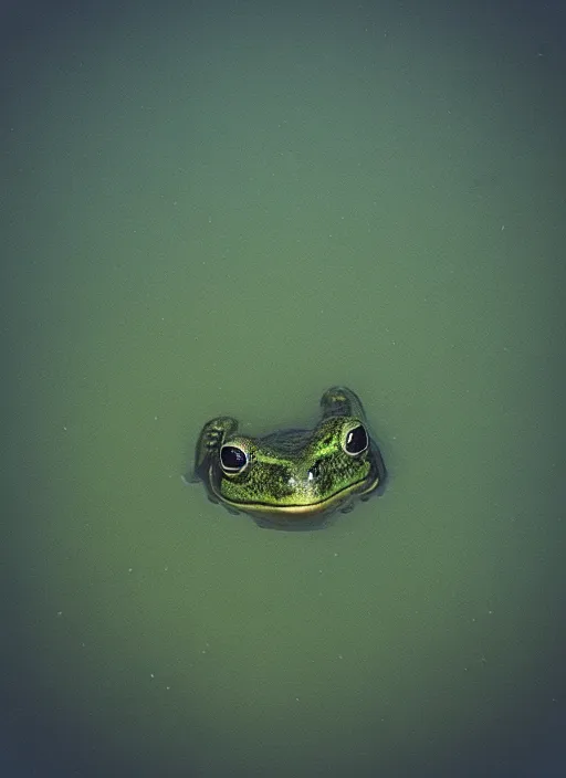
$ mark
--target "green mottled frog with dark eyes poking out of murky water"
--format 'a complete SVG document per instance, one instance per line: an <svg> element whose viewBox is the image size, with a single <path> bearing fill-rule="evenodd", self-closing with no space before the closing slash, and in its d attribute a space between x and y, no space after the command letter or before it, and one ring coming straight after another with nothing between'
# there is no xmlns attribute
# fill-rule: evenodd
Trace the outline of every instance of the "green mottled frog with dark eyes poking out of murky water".
<svg viewBox="0 0 566 778"><path fill-rule="evenodd" d="M335 386L323 393L312 429L250 437L232 417L207 421L190 480L205 484L212 503L248 514L260 527L301 529L381 494L386 474L360 399Z"/></svg>

